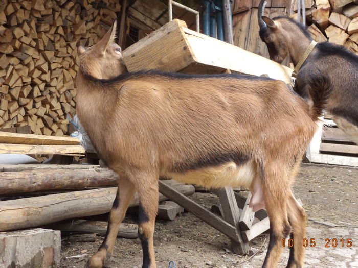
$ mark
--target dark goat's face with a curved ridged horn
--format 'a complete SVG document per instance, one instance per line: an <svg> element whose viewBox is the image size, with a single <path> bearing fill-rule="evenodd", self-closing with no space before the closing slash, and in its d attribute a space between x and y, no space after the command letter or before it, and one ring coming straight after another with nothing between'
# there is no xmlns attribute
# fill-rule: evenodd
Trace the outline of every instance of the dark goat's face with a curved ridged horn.
<svg viewBox="0 0 358 268"><path fill-rule="evenodd" d="M266 1L261 0L257 13L260 26L260 37L267 45L270 59L282 63L288 55L288 44L285 31L283 31L280 21L263 16L265 5Z"/></svg>

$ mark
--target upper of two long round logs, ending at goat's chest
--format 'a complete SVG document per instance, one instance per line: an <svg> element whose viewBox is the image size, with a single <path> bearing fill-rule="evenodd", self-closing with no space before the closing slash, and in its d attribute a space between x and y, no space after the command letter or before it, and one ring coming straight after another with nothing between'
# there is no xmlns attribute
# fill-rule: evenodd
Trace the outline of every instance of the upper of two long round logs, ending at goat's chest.
<svg viewBox="0 0 358 268"><path fill-rule="evenodd" d="M2 196L41 190L76 189L117 185L118 175L109 168L38 169L0 173Z"/></svg>

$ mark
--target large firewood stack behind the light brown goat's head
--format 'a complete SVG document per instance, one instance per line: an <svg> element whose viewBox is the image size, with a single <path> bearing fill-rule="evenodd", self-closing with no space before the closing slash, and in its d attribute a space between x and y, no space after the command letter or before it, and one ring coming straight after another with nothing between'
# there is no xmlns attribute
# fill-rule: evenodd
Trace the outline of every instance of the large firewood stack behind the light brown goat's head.
<svg viewBox="0 0 358 268"><path fill-rule="evenodd" d="M91 46L120 11L117 0L0 2L0 128L62 136L75 114L77 45Z"/></svg>

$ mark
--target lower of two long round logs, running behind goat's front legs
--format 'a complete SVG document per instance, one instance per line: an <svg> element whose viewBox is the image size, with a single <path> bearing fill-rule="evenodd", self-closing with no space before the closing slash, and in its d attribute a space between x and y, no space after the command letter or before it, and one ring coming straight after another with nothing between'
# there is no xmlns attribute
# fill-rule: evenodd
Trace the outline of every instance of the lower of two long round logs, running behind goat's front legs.
<svg viewBox="0 0 358 268"><path fill-rule="evenodd" d="M166 181L178 192L189 196L194 186ZM175 183L175 184L174 184ZM69 218L92 216L110 211L117 187L49 194L0 202L0 231L9 231L50 224ZM162 194L159 200L167 198ZM138 206L137 194L130 206Z"/></svg>

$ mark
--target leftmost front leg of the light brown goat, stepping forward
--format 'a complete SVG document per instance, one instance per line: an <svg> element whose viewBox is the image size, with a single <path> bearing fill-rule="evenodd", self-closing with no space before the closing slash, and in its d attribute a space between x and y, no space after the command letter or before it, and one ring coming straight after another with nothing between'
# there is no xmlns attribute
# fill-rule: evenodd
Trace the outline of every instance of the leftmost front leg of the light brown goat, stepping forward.
<svg viewBox="0 0 358 268"><path fill-rule="evenodd" d="M119 226L133 200L135 191L135 185L128 178L120 176L116 199L108 216L106 236L98 252L87 262L87 268L102 268L106 259L112 255Z"/></svg>

